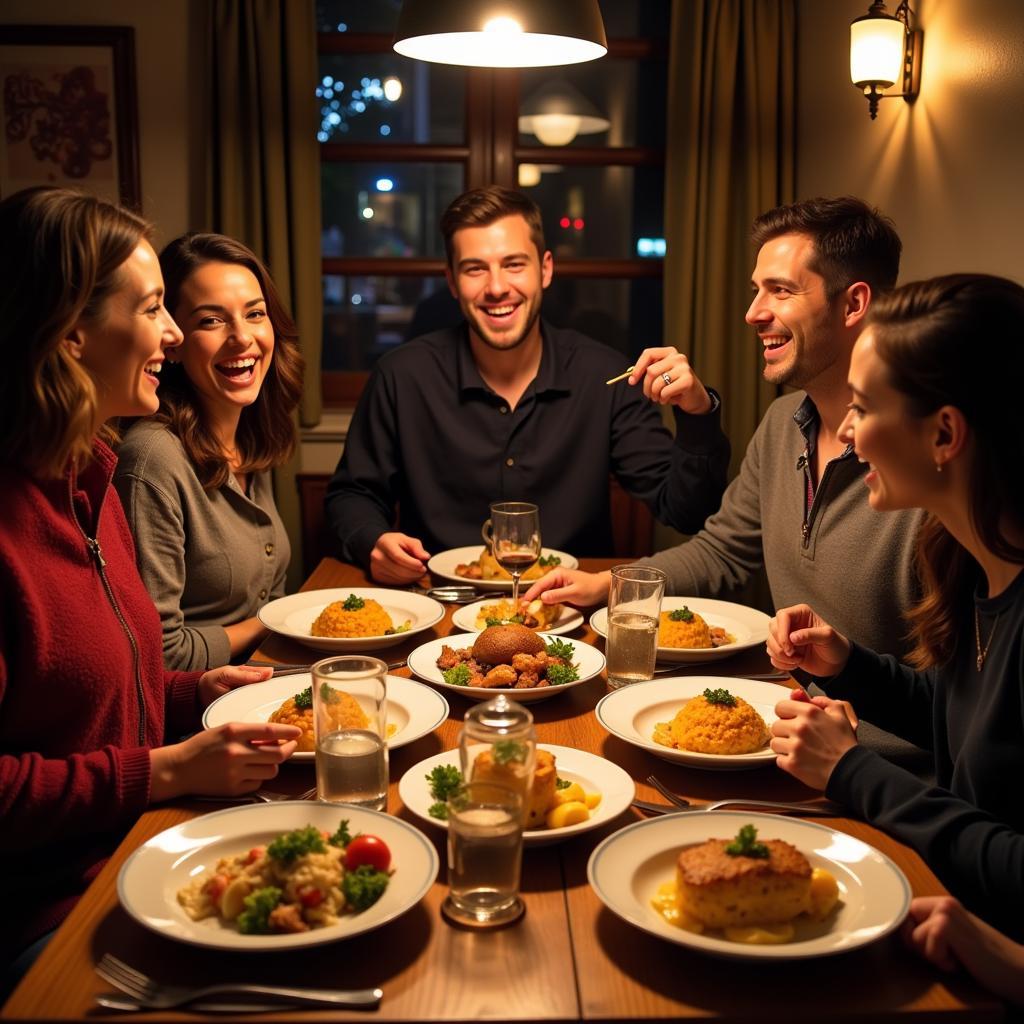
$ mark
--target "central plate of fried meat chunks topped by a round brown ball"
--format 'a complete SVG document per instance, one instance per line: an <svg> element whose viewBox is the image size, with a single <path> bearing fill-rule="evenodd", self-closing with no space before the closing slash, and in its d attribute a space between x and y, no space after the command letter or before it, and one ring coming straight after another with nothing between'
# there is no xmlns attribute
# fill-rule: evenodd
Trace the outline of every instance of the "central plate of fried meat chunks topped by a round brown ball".
<svg viewBox="0 0 1024 1024"><path fill-rule="evenodd" d="M409 655L409 667L433 686L470 700L505 693L529 703L593 679L604 669L604 655L580 640L511 624L430 640Z"/></svg>

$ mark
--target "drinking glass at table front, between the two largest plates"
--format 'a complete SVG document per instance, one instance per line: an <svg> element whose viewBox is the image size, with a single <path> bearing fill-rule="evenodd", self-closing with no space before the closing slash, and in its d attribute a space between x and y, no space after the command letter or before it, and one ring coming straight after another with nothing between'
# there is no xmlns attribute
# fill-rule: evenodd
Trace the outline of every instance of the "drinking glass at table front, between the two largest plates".
<svg viewBox="0 0 1024 1024"><path fill-rule="evenodd" d="M444 915L495 927L523 911L522 794L497 782L468 782L449 798L449 895Z"/></svg>

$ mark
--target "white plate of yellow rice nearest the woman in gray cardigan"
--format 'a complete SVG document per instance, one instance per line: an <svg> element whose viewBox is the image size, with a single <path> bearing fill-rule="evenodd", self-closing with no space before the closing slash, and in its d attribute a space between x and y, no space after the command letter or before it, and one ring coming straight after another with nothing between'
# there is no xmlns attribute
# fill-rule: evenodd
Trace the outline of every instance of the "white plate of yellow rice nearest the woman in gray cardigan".
<svg viewBox="0 0 1024 1024"><path fill-rule="evenodd" d="M432 597L380 587L307 590L259 609L272 633L333 653L393 647L443 617Z"/></svg>

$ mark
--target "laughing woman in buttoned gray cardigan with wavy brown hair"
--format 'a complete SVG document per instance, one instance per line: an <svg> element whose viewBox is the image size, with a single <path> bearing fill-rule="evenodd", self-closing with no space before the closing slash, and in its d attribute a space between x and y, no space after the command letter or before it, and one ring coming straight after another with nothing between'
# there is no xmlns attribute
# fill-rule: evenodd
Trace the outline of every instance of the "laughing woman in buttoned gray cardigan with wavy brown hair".
<svg viewBox="0 0 1024 1024"><path fill-rule="evenodd" d="M184 335L160 412L134 423L115 480L171 669L238 660L262 639L291 549L269 470L295 449L302 388L295 325L266 268L222 234L160 255L166 305Z"/></svg>

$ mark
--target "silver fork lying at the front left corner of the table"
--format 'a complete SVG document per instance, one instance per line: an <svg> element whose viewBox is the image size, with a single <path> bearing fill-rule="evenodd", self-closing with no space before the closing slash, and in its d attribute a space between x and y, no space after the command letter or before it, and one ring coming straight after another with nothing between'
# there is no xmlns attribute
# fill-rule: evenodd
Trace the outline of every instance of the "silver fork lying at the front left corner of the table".
<svg viewBox="0 0 1024 1024"><path fill-rule="evenodd" d="M170 1010L173 1007L183 1007L188 1002L208 998L211 995L272 996L283 1002L299 1006L373 1010L380 1006L380 1001L384 997L383 991L379 988L359 988L346 991L332 988L250 985L244 982L222 982L217 985L203 985L199 988L161 985L111 953L103 953L95 970L103 981L132 996L140 1008L146 1010Z"/></svg>

